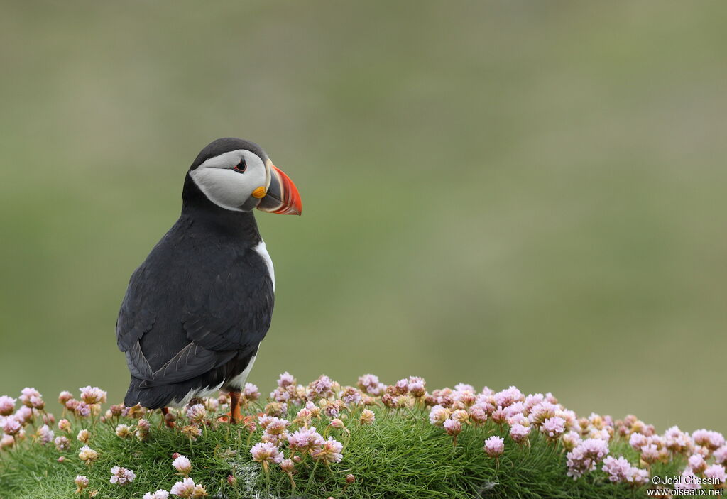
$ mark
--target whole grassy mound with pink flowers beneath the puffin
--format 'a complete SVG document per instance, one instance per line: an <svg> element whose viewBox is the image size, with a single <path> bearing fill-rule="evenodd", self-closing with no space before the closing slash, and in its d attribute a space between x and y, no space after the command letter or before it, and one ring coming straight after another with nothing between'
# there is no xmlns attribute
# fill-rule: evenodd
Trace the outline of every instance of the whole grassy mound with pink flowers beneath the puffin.
<svg viewBox="0 0 727 499"><path fill-rule="evenodd" d="M235 424L226 394L166 415L104 411L106 399L92 386L78 399L62 392L56 421L35 389L0 397L0 498L634 498L725 487L716 431L578 418L514 386L427 392L422 378L373 375L304 386L284 373L265 402L245 386Z"/></svg>

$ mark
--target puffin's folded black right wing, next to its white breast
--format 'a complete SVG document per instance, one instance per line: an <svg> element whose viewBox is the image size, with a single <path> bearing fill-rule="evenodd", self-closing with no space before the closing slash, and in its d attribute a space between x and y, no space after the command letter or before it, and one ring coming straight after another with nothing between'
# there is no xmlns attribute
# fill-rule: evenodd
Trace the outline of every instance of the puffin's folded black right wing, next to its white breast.
<svg viewBox="0 0 727 499"><path fill-rule="evenodd" d="M262 341L273 315L273 281L262 257L249 249L185 307L187 338L215 352L249 349Z"/></svg>

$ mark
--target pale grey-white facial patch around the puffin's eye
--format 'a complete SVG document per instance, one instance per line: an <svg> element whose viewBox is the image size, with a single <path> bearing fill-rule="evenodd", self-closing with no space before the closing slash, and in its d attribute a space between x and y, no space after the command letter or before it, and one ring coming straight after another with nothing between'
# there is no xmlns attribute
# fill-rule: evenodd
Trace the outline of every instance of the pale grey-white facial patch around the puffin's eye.
<svg viewBox="0 0 727 499"><path fill-rule="evenodd" d="M245 171L241 173L234 168L242 159ZM212 203L233 211L242 211L241 206L250 198L252 191L267 185L265 163L257 154L245 149L209 158L190 171L190 177Z"/></svg>

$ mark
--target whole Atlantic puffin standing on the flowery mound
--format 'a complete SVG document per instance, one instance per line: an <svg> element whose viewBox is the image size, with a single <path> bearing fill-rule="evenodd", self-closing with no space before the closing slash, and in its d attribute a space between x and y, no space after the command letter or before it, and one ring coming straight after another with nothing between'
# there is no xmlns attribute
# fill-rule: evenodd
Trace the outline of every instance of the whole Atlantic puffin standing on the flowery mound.
<svg viewBox="0 0 727 499"><path fill-rule="evenodd" d="M230 392L230 421L273 316L275 274L253 210L300 215L300 194L262 148L217 139L190 166L182 213L132 274L116 321L124 405L181 407Z"/></svg>

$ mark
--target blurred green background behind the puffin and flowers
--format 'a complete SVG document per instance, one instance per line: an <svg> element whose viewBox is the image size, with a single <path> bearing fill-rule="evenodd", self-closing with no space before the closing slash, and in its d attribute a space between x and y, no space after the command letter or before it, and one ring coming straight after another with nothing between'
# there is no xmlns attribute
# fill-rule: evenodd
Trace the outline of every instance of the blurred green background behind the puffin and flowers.
<svg viewBox="0 0 727 499"><path fill-rule="evenodd" d="M372 372L727 431L727 4L9 2L0 394L128 374L129 275L207 142L302 217L250 381Z"/></svg>

